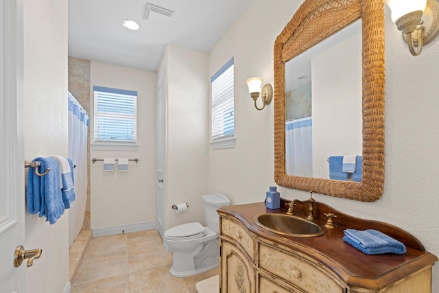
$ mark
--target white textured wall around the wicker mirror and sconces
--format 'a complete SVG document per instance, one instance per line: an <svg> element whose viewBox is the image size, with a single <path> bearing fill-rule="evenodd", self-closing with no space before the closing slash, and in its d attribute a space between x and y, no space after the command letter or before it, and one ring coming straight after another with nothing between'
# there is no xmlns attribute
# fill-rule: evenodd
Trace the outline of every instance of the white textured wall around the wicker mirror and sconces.
<svg viewBox="0 0 439 293"><path fill-rule="evenodd" d="M297 3L254 0L209 57L214 73L235 56L234 149L209 152L209 191L222 191L234 204L262 202L274 183L273 105L257 111L245 80L261 75L273 80L273 44ZM418 237L439 256L439 39L412 57L385 13L385 183L381 199L357 202L315 195L316 200L359 218L394 224ZM276 89L274 89L276 91ZM307 192L280 188L284 198L309 197ZM433 290L439 292L439 268Z"/></svg>

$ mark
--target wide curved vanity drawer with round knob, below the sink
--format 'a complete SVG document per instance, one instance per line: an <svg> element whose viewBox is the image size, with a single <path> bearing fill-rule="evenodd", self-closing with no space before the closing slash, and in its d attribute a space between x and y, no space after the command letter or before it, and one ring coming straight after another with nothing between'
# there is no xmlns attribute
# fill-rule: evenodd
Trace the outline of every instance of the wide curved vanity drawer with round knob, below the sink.
<svg viewBox="0 0 439 293"><path fill-rule="evenodd" d="M345 287L307 259L259 242L259 268L309 293L345 292Z"/></svg>

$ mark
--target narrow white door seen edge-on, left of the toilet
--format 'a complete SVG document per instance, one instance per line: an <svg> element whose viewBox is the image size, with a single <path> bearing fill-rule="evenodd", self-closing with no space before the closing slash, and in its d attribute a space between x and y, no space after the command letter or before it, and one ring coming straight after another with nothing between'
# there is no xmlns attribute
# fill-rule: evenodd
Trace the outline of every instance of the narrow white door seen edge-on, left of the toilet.
<svg viewBox="0 0 439 293"><path fill-rule="evenodd" d="M157 82L157 113L156 113L156 228L163 237L165 233L165 137L166 137L166 70L164 69Z"/></svg>

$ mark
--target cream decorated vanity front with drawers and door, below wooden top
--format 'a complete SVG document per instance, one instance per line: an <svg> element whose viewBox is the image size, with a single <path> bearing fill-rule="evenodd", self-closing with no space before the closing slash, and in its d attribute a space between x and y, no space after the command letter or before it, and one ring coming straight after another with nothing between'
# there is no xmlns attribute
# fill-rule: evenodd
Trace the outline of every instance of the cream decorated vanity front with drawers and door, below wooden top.
<svg viewBox="0 0 439 293"><path fill-rule="evenodd" d="M239 222L223 216L221 228L220 292L347 292L312 260L257 239Z"/></svg>

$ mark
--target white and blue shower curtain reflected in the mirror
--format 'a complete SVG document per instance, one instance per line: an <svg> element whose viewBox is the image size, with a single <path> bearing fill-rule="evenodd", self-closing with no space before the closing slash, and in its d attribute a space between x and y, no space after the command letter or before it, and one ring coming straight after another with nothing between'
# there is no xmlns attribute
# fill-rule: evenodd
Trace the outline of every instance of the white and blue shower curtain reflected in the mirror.
<svg viewBox="0 0 439 293"><path fill-rule="evenodd" d="M285 123L285 165L288 175L313 176L312 117Z"/></svg>

